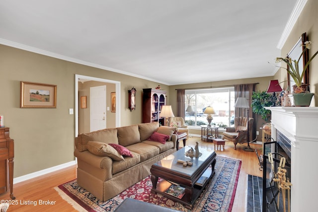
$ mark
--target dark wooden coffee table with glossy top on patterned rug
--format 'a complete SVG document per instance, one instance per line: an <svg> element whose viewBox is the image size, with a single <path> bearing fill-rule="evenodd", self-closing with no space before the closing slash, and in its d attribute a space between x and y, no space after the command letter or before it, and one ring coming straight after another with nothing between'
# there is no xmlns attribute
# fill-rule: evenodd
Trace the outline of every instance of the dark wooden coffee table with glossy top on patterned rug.
<svg viewBox="0 0 318 212"><path fill-rule="evenodd" d="M185 146L161 159L152 165L150 172L151 181L153 183L152 193L159 193L192 210L195 201L215 174L214 167L217 155L215 151L207 151L206 149L199 148L202 155L200 157L191 158L184 154L189 149L189 146ZM177 162L178 159L190 161L193 165L183 166L182 163ZM211 166L211 169L208 169L209 166ZM201 186L196 185L196 182L201 176L207 177L207 180ZM158 183L159 177L163 180ZM185 188L185 194L181 199L165 193L172 183Z"/></svg>

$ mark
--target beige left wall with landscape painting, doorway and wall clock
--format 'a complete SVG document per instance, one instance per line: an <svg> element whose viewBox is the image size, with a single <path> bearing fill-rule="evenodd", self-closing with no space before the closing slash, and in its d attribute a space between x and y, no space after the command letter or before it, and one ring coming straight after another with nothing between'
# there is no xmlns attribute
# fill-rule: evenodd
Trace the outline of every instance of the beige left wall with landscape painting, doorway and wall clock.
<svg viewBox="0 0 318 212"><path fill-rule="evenodd" d="M14 177L74 160L75 116L69 115L69 108L75 109L75 74L121 82L121 126L142 122L142 89L158 85L0 45L0 114L14 139ZM20 108L20 81L57 85L57 108ZM130 111L128 90L132 87L137 89L136 110Z"/></svg>

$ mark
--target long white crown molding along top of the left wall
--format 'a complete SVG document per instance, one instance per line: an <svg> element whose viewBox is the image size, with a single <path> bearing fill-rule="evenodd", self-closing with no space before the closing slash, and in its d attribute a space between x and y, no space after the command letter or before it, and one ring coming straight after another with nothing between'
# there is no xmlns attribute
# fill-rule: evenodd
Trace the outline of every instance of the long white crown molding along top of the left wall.
<svg viewBox="0 0 318 212"><path fill-rule="evenodd" d="M102 70L106 70L106 71L113 71L113 72L116 72L116 73L121 73L121 74L129 75L129 76L134 76L134 77L137 77L137 78L142 78L142 79L158 82L160 84L170 85L167 82L159 81L159 80L156 80L156 79L153 79L153 78L148 78L148 77L145 77L145 76L142 76L142 75L138 75L138 74L134 74L134 73L130 73L130 72L127 72L127 71L121 71L121 70L118 70L118 69L114 69L114 68L110 68L110 67L94 64L94 63L90 63L90 62L87 62L87 61L78 60L78 59L75 59L75 58L71 58L71 57L67 57L67 56L64 56L64 55L56 54L56 53L53 53L53 52L45 51L45 50L42 50L42 49L34 48L34 47L31 47L31 46L27 46L27 45L24 45L24 44L20 44L20 43L16 43L16 42L13 42L13 41L5 40L5 39L2 39L2 38L0 38L0 44L5 45L5 46L10 46L10 47L13 47L13 48L17 48L17 49L22 49L22 50L25 50L25 51L28 51L28 52L37 53L37 54L40 54L40 55L45 55L45 56L52 57L52 58L57 58L57 59L64 60L64 61L69 61L69 62L76 63L76 64L81 64L81 65L84 65L84 66L89 66L89 67L102 69Z"/></svg>

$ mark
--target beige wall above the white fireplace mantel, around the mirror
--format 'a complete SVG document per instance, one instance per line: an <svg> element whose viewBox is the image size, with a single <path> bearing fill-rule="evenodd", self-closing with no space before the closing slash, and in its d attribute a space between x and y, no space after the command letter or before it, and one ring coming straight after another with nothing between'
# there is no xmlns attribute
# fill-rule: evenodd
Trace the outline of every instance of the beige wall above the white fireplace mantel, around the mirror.
<svg viewBox="0 0 318 212"><path fill-rule="evenodd" d="M281 57L286 57L286 54L293 48L300 36L306 32L310 41L313 42L312 48L309 50L309 57L318 51L318 1L308 0L298 18L293 30L291 31L285 45L281 51ZM285 64L282 66L286 67ZM287 72L284 69L279 70L275 76L280 82L287 80ZM311 102L311 106L318 106L318 57L316 57L309 67L309 83L310 90L315 93L314 98ZM287 87L287 82L282 83L282 87Z"/></svg>

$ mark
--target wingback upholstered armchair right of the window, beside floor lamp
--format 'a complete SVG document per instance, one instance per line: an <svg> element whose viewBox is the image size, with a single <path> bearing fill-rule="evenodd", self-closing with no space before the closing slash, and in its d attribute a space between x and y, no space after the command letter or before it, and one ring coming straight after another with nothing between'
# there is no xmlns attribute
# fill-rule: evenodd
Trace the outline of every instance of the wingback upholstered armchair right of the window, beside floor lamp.
<svg viewBox="0 0 318 212"><path fill-rule="evenodd" d="M252 126L254 119L248 118L249 139L252 138ZM234 127L227 127L223 133L223 139L234 142L234 148L237 149L238 143L247 142L247 117L235 117Z"/></svg>

